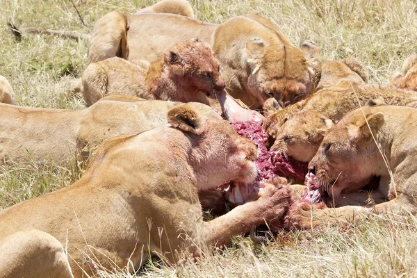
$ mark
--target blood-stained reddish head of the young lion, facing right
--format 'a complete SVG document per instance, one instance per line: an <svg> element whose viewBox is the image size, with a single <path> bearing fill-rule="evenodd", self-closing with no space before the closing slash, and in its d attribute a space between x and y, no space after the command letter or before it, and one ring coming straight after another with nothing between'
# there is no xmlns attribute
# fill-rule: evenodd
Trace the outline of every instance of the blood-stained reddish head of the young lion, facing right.
<svg viewBox="0 0 417 278"><path fill-rule="evenodd" d="M165 54L165 63L184 88L204 92L208 97L225 88L219 60L206 42L193 39L177 44Z"/></svg>

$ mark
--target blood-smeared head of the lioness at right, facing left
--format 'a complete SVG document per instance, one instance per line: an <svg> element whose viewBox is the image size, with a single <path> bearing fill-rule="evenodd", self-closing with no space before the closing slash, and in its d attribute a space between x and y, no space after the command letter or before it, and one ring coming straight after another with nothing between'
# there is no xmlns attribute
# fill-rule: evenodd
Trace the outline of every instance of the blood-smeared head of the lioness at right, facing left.
<svg viewBox="0 0 417 278"><path fill-rule="evenodd" d="M378 152L373 138L384 124L384 114L363 110L366 119L359 108L329 129L309 163L320 186L335 199L342 191L357 190L372 178L370 168Z"/></svg>

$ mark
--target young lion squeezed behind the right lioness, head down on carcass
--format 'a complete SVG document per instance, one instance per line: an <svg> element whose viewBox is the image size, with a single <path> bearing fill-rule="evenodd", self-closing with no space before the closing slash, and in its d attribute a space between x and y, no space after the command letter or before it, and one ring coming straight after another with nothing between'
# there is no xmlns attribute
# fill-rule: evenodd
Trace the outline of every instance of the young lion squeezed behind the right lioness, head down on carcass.
<svg viewBox="0 0 417 278"><path fill-rule="evenodd" d="M307 162L316 154L322 136L333 122L369 102L415 106L417 95L377 85L330 87L316 92L305 101L269 115L263 127L270 137L272 150L286 152L297 160ZM304 147L306 150L303 151Z"/></svg>

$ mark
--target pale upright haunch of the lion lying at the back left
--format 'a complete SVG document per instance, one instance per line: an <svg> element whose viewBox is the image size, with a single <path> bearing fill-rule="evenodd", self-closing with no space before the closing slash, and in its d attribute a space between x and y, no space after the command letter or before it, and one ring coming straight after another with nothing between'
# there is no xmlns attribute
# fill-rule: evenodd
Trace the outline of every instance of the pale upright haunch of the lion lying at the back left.
<svg viewBox="0 0 417 278"><path fill-rule="evenodd" d="M127 18L117 11L104 15L95 22L88 43L88 63L111 57L127 59Z"/></svg>

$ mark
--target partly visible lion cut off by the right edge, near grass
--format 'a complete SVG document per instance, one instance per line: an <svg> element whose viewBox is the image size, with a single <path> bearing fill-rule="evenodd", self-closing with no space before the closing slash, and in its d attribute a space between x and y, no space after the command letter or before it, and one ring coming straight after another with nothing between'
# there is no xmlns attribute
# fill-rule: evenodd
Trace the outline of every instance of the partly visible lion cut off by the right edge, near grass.
<svg viewBox="0 0 417 278"><path fill-rule="evenodd" d="M417 54L413 53L404 60L401 71L389 76L389 85L395 88L417 91Z"/></svg>

